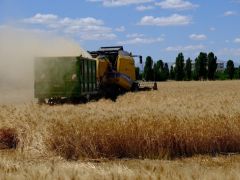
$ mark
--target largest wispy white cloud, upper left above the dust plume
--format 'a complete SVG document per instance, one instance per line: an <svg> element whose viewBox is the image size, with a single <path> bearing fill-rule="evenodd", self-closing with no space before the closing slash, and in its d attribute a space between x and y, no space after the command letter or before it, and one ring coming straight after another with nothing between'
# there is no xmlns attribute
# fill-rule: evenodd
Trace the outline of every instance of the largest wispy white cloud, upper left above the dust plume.
<svg viewBox="0 0 240 180"><path fill-rule="evenodd" d="M112 28L104 26L104 22L93 17L60 18L54 14L36 14L23 20L27 24L40 24L45 28L67 35L79 37L82 40L111 40L116 35Z"/></svg>

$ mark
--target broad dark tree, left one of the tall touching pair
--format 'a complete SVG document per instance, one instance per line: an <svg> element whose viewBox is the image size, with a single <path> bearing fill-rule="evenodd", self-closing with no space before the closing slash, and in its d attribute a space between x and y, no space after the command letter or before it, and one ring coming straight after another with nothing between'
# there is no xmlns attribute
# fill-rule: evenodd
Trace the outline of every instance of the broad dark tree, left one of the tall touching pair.
<svg viewBox="0 0 240 180"><path fill-rule="evenodd" d="M196 79L206 79L207 78L207 53L201 52L199 56L195 59L195 76Z"/></svg>

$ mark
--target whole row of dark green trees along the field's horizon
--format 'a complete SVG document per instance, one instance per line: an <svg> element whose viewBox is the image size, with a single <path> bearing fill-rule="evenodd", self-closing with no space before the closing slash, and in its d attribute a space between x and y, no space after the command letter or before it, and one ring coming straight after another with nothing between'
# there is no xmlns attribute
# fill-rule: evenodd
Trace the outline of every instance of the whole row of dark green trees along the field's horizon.
<svg viewBox="0 0 240 180"><path fill-rule="evenodd" d="M136 68L136 76L138 80L146 81L240 79L240 66L235 68L234 62L228 60L226 68L217 71L217 57L213 52L200 52L194 62L190 58L185 60L183 53L179 53L175 64L170 68L163 60L154 62L152 57L148 56L143 72Z"/></svg>

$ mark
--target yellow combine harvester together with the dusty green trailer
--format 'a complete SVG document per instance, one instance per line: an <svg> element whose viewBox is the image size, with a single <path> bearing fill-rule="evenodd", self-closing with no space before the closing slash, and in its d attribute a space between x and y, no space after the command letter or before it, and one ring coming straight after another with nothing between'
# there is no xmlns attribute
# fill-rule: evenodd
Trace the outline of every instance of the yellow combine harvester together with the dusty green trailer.
<svg viewBox="0 0 240 180"><path fill-rule="evenodd" d="M81 103L102 97L116 100L129 91L157 89L136 81L134 57L122 46L102 47L89 52L92 58L36 58L34 95L39 103Z"/></svg>

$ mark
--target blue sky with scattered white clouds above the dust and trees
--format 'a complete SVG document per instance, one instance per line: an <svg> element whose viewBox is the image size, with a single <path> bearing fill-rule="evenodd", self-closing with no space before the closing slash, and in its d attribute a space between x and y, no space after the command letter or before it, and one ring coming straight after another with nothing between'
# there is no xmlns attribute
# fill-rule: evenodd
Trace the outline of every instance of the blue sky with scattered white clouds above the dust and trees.
<svg viewBox="0 0 240 180"><path fill-rule="evenodd" d="M124 45L154 60L213 51L240 62L240 0L0 0L0 27L74 39L83 48Z"/></svg>

